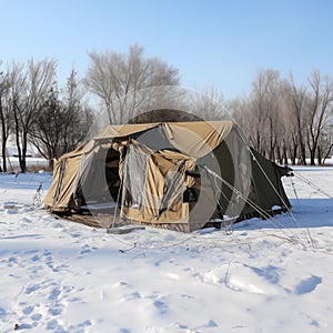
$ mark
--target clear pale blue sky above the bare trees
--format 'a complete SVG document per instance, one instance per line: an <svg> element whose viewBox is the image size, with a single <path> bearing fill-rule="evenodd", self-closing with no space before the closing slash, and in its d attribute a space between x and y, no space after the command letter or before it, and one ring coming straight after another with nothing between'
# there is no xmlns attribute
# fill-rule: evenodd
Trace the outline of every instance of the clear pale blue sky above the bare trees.
<svg viewBox="0 0 333 333"><path fill-rule="evenodd" d="M83 77L89 51L144 47L180 70L181 84L246 94L259 69L333 78L330 0L0 0L0 59L58 60L59 83Z"/></svg>

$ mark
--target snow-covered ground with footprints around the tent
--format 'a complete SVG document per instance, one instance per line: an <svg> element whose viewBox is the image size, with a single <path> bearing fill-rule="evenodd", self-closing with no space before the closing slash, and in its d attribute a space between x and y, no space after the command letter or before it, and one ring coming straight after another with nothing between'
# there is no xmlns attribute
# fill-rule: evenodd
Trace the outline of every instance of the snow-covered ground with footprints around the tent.
<svg viewBox="0 0 333 333"><path fill-rule="evenodd" d="M296 173L333 196L333 168ZM49 173L0 174L0 332L333 332L333 200L233 232L108 234L31 206ZM46 193L43 193L46 194Z"/></svg>

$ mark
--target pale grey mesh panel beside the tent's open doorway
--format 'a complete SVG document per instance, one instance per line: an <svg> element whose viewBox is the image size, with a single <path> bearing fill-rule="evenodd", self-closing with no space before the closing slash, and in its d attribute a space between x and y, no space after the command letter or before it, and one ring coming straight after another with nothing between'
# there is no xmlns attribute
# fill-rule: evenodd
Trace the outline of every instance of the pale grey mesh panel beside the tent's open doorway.
<svg viewBox="0 0 333 333"><path fill-rule="evenodd" d="M123 171L122 205L141 210L144 202L145 174L149 154L130 145Z"/></svg>

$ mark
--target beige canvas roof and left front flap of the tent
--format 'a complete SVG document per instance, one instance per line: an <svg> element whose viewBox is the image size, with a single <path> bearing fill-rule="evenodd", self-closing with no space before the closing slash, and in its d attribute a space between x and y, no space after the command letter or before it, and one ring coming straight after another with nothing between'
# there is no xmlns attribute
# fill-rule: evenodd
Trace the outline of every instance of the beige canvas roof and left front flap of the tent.
<svg viewBox="0 0 333 333"><path fill-rule="evenodd" d="M81 162L94 151L109 149L112 144L114 150L121 151L119 173L120 178L122 178L122 152L123 148L128 144L125 138L155 127L162 128L165 137L176 149L192 158L200 158L209 153L212 149L219 145L225 137L228 137L233 123L231 121L200 121L108 125L95 138L85 144L80 145L74 151L65 153L59 159L59 161L54 162L53 182L48 195L46 196L46 205L54 211L65 210L70 203L73 190L75 189L77 176L80 174L81 170ZM122 142L119 142L119 140L115 140L119 138L124 139ZM105 140L110 140L110 143L105 143ZM114 142L114 140L117 142ZM169 155L170 154L171 152L169 152ZM182 157L184 158L184 155ZM158 157L155 155L154 159L158 159ZM165 161L167 160L168 159L165 159ZM62 168L60 168L61 165ZM151 167L151 172L153 172L153 167ZM163 173L161 176L163 176ZM151 189L151 191L153 190ZM183 206L185 206L185 204ZM184 210L183 206L182 210ZM186 215L185 212L183 212L183 214ZM165 220L168 219L169 218L165 218Z"/></svg>

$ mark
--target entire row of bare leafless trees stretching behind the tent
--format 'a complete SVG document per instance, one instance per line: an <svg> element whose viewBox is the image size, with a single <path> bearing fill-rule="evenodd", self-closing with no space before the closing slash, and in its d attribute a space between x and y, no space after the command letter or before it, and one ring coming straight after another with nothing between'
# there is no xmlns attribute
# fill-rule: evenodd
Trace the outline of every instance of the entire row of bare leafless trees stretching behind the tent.
<svg viewBox="0 0 333 333"><path fill-rule="evenodd" d="M84 141L92 124L143 120L232 118L251 145L280 163L306 164L310 158L311 164L321 164L332 151L333 84L320 72L296 84L292 74L282 79L278 71L262 70L248 97L226 101L213 88L189 94L180 87L179 70L145 58L140 46L131 46L127 53L89 57L85 77L78 78L73 69L64 87L57 80L56 60L31 59L6 68L0 60L1 171L8 169L9 140L14 140L26 172L28 144L52 161ZM160 112L151 112L155 110Z"/></svg>

